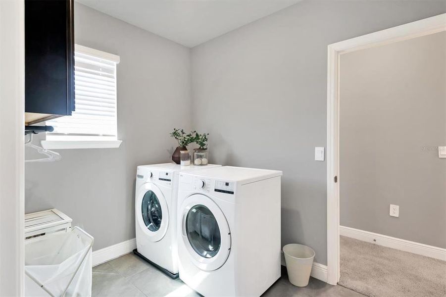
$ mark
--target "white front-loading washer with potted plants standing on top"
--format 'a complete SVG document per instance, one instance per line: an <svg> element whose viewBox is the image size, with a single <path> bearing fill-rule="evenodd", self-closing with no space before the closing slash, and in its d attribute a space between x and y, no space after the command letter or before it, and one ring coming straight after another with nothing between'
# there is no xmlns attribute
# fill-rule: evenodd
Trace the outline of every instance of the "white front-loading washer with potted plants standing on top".
<svg viewBox="0 0 446 297"><path fill-rule="evenodd" d="M180 172L220 165L180 166L175 163L138 166L136 173L135 254L169 276L178 277L177 198Z"/></svg>

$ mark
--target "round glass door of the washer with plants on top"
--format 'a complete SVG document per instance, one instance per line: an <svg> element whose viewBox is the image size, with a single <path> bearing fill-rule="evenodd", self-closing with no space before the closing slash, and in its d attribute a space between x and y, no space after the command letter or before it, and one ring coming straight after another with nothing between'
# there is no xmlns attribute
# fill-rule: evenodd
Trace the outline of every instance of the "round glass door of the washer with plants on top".
<svg viewBox="0 0 446 297"><path fill-rule="evenodd" d="M166 198L154 184L146 183L138 190L136 217L141 229L152 242L160 241L166 234L169 210Z"/></svg>

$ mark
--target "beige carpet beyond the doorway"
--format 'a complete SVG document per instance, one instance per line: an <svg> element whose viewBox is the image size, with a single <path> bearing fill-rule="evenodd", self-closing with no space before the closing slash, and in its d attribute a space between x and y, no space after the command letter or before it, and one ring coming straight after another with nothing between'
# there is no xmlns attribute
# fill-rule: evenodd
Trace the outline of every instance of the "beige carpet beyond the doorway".
<svg viewBox="0 0 446 297"><path fill-rule="evenodd" d="M446 297L446 262L341 236L339 284L369 297Z"/></svg>

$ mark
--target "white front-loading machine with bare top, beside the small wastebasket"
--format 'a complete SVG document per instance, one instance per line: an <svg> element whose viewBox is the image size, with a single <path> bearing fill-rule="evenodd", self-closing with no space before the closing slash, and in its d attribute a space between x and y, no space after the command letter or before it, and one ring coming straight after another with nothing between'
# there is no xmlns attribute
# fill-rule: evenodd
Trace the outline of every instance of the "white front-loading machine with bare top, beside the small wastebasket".
<svg viewBox="0 0 446 297"><path fill-rule="evenodd" d="M199 294L260 296L280 278L282 171L180 173L178 268Z"/></svg>

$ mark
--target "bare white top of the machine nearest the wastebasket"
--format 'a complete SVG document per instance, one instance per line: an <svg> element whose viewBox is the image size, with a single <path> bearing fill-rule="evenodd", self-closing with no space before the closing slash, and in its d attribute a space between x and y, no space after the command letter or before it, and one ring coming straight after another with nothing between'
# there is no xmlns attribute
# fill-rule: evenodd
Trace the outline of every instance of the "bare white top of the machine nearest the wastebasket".
<svg viewBox="0 0 446 297"><path fill-rule="evenodd" d="M204 169L193 173L191 172L191 174L219 180L241 182L241 184L243 185L276 176L282 176L282 171L222 166Z"/></svg>

